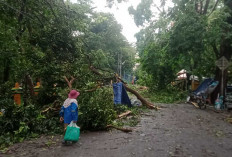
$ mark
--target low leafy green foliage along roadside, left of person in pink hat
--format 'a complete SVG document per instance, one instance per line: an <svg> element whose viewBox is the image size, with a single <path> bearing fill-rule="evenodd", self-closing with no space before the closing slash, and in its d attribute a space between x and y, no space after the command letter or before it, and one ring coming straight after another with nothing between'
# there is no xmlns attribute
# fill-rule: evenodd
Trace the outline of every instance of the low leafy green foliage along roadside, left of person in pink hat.
<svg viewBox="0 0 232 157"><path fill-rule="evenodd" d="M22 142L28 137L62 132L59 117L42 115L37 106L34 104L18 106L11 99L0 101L1 109L5 109L4 114L0 116L1 149L15 142Z"/></svg>

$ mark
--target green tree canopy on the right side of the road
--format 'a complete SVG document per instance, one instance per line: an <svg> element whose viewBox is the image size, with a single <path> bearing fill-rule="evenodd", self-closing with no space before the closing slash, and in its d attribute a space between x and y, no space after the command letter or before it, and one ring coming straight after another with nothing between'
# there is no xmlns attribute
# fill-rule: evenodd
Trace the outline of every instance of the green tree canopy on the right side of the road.
<svg viewBox="0 0 232 157"><path fill-rule="evenodd" d="M142 69L156 82L152 86L165 88L181 69L221 80L215 61L231 58L230 2L175 0L173 7L165 2L157 6L143 0L136 9L129 8L135 23L145 24L136 34L137 49Z"/></svg>

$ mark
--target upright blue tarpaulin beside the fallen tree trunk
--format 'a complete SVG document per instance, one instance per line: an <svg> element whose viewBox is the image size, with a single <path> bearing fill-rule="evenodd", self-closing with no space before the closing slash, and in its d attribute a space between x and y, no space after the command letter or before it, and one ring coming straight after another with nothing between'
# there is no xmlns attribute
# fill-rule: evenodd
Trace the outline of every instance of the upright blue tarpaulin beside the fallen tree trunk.
<svg viewBox="0 0 232 157"><path fill-rule="evenodd" d="M122 82L113 84L114 104L126 104L131 107L131 101Z"/></svg>

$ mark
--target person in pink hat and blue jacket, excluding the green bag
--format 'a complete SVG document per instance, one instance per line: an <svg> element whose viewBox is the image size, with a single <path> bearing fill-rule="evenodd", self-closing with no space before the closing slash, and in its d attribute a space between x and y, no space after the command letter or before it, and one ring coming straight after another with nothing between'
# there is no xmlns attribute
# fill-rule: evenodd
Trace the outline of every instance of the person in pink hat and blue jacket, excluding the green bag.
<svg viewBox="0 0 232 157"><path fill-rule="evenodd" d="M67 126L73 121L76 123L78 120L78 103L77 97L80 93L76 90L71 90L68 94L68 98L64 101L63 106L60 110L60 122L64 121L64 133L67 129ZM66 141L63 141L65 143Z"/></svg>

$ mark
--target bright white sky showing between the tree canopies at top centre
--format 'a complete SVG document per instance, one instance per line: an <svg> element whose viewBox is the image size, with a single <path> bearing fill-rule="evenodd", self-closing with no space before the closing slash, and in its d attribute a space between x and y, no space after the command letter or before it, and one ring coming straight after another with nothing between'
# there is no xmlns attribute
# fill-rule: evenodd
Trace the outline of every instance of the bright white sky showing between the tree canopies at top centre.
<svg viewBox="0 0 232 157"><path fill-rule="evenodd" d="M71 0L71 2L76 2L77 0ZM134 35L139 32L138 28L132 16L129 15L128 7L133 6L135 9L141 0L128 0L128 2L117 3L112 8L108 8L106 5L106 0L92 0L93 6L96 7L98 12L110 12L114 14L116 20L122 25L122 34L127 38L130 43L135 43L136 38ZM160 0L156 1L157 6L160 5ZM170 5L170 3L168 3Z"/></svg>

